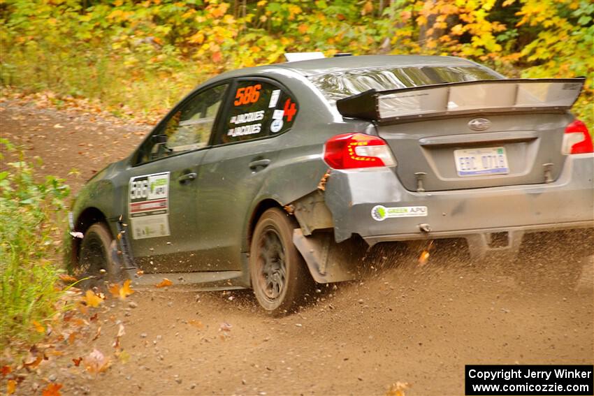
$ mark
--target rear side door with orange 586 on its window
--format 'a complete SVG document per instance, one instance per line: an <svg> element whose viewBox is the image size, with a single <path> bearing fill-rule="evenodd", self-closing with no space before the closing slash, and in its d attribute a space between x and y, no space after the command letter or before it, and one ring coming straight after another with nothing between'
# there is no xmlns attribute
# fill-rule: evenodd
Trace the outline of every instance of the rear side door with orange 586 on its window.
<svg viewBox="0 0 594 396"><path fill-rule="evenodd" d="M205 270L240 270L254 198L277 159L277 135L291 129L294 96L273 80L241 78L229 89L219 129L201 165L198 229Z"/></svg>

